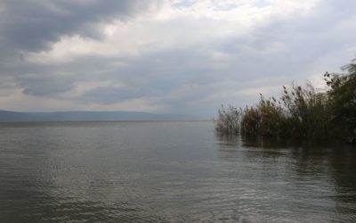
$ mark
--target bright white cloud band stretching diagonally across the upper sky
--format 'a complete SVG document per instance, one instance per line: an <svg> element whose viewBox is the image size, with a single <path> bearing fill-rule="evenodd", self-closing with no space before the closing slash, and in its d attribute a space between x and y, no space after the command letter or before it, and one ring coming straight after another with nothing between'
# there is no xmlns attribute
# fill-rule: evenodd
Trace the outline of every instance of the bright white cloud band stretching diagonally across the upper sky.
<svg viewBox="0 0 356 223"><path fill-rule="evenodd" d="M192 47L217 38L241 37L272 16L293 17L309 12L317 1L275 1L256 7L256 1L196 1L190 7L166 4L157 13L144 13L131 21L102 23L104 37L64 36L50 51L28 55L30 62L63 62L85 54L140 56L166 48ZM229 10L219 10L231 7ZM270 45L278 50L280 43Z"/></svg>

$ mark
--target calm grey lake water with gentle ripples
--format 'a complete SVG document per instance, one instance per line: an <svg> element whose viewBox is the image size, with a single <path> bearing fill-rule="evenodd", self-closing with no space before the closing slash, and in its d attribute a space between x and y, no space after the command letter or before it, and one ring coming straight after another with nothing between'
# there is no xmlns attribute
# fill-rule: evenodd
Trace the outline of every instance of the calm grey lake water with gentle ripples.
<svg viewBox="0 0 356 223"><path fill-rule="evenodd" d="M211 121L0 123L0 222L356 222L356 148Z"/></svg>

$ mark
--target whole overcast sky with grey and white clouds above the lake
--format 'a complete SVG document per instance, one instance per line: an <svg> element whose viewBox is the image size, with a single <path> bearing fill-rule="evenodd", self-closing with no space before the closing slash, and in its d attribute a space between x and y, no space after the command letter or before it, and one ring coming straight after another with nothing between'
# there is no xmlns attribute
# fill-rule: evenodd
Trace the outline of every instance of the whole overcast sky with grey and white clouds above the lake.
<svg viewBox="0 0 356 223"><path fill-rule="evenodd" d="M0 0L0 110L213 117L356 57L354 0Z"/></svg>

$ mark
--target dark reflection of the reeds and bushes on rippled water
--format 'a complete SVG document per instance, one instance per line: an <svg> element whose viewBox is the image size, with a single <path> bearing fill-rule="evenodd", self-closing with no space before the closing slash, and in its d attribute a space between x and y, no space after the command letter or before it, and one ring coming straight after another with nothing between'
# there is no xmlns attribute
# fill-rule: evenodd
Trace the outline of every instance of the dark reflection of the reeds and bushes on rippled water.
<svg viewBox="0 0 356 223"><path fill-rule="evenodd" d="M223 161L251 162L253 187L272 215L292 222L356 220L356 148L320 142L216 136ZM227 149L227 146L234 148ZM231 159L234 157L235 159ZM248 170L245 171L248 171ZM241 177L239 177L241 178ZM287 211L287 216L282 214Z"/></svg>

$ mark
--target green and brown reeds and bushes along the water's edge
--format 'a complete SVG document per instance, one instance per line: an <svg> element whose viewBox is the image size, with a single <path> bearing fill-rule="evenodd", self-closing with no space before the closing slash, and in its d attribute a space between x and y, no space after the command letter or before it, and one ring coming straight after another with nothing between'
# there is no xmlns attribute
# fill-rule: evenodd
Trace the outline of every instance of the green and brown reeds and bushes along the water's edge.
<svg viewBox="0 0 356 223"><path fill-rule="evenodd" d="M343 74L324 74L326 91L312 84L282 88L279 98L260 99L252 106L218 110L215 130L222 134L281 139L345 140L356 144L356 60Z"/></svg>

